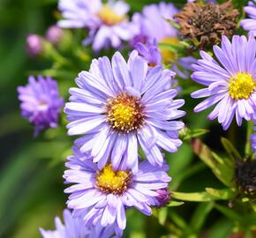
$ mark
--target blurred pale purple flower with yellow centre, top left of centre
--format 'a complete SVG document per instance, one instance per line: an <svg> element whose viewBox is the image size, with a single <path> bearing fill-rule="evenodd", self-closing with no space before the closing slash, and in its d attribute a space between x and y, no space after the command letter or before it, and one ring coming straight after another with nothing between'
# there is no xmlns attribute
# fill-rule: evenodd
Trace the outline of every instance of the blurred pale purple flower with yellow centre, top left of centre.
<svg viewBox="0 0 256 238"><path fill-rule="evenodd" d="M123 1L60 0L59 10L64 17L58 26L88 28L89 38L85 44L93 43L95 51L102 48L119 48L122 40L130 41L135 26L128 20L129 5Z"/></svg>

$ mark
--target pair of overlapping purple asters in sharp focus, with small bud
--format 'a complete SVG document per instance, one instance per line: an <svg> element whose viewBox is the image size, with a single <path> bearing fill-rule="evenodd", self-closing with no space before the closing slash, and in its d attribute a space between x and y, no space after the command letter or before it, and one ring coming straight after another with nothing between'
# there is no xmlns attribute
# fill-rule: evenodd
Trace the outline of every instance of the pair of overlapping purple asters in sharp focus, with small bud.
<svg viewBox="0 0 256 238"><path fill-rule="evenodd" d="M148 66L134 50L127 63L118 52L111 61L94 59L76 78L79 88L70 89L64 112L68 134L82 137L64 173L65 182L76 184L65 192L71 193L68 207L88 227L115 226L121 236L126 209L150 215L150 206L168 202L162 150L177 152L177 131L184 127L177 121L184 100L174 100L174 76L161 65ZM139 159L139 146L147 160Z"/></svg>

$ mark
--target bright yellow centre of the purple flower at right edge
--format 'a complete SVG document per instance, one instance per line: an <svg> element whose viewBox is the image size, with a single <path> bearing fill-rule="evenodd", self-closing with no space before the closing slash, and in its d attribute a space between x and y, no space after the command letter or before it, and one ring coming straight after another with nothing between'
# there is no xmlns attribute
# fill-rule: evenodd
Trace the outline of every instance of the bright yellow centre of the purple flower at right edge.
<svg viewBox="0 0 256 238"><path fill-rule="evenodd" d="M256 82L249 73L240 72L230 78L229 93L232 99L248 99L255 90Z"/></svg>

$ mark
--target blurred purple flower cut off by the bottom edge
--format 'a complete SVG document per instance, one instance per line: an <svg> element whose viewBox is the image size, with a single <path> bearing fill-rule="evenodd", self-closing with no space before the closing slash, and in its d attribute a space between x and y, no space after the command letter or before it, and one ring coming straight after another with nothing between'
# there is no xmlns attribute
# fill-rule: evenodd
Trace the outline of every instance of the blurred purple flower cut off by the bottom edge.
<svg viewBox="0 0 256 238"><path fill-rule="evenodd" d="M102 227L100 224L96 227L86 227L81 218L74 218L72 212L65 209L63 212L64 224L61 219L56 217L56 230L48 231L40 228L43 238L109 238L114 233L114 227Z"/></svg>

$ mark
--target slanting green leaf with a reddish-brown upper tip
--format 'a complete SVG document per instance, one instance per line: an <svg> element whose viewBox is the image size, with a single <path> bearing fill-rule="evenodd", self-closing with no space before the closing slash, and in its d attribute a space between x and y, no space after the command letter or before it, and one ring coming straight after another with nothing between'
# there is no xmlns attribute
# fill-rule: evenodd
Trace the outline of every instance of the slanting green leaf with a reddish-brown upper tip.
<svg viewBox="0 0 256 238"><path fill-rule="evenodd" d="M192 150L195 152L200 160L203 160L208 167L210 167L215 176L226 186L235 187L233 180L235 173L235 164L227 159L221 158L215 152L212 152L207 145L203 144L200 139L194 138L192 140Z"/></svg>

